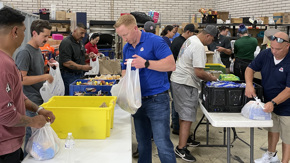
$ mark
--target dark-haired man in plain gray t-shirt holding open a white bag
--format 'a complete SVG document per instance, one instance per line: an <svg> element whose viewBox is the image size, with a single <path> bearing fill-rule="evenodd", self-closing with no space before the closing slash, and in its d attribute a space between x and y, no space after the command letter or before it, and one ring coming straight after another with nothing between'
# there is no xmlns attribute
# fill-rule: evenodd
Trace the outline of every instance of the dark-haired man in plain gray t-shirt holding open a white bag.
<svg viewBox="0 0 290 163"><path fill-rule="evenodd" d="M23 93L37 105L43 103L43 99L40 95L40 88L43 86L44 82L46 80L49 83L53 82L53 77L49 74L44 74L44 72L46 72L50 66L54 66L52 63L56 61L52 58L47 65L44 65L43 55L39 48L43 47L46 41L48 41L51 28L50 23L46 20L38 19L33 21L30 28L31 39L19 49L15 58L15 63L21 70L23 76ZM28 117L34 117L36 113L26 110L26 115ZM26 127L24 157L27 155L25 147L30 137L31 128Z"/></svg>

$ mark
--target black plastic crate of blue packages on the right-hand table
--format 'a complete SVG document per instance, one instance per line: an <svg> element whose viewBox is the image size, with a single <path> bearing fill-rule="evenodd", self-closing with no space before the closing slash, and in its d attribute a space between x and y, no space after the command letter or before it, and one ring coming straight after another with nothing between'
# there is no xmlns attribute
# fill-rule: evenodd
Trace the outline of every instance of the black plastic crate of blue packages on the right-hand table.
<svg viewBox="0 0 290 163"><path fill-rule="evenodd" d="M245 88L213 88L206 85L208 81L202 81L202 104L209 113L226 112L241 113L242 108L254 98L245 96ZM232 81L246 83L245 81ZM255 84L255 83L253 83ZM255 84L256 95L263 101L263 87Z"/></svg>

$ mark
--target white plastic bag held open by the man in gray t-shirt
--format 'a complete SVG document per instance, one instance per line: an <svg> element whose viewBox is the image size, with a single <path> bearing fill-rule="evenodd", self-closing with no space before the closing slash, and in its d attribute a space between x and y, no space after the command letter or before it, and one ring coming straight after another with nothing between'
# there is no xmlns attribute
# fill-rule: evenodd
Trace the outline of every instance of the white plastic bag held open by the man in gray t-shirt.
<svg viewBox="0 0 290 163"><path fill-rule="evenodd" d="M52 96L64 95L64 81L59 70L59 63L56 62L55 65L57 65L55 70L51 67L49 69L49 75L53 77L53 82L50 84L46 81L39 90L44 102L48 102Z"/></svg>

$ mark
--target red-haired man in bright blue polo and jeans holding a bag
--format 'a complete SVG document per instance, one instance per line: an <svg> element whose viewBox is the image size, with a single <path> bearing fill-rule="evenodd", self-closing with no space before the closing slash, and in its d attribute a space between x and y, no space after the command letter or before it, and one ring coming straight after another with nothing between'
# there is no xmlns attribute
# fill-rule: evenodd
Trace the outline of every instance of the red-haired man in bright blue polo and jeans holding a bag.
<svg viewBox="0 0 290 163"><path fill-rule="evenodd" d="M138 30L133 15L121 16L114 25L116 32L128 43L123 48L122 76L126 61L134 58L132 68L139 68L142 106L133 115L139 150L139 163L152 162L154 142L162 163L176 163L170 140L169 81L167 71L174 71L175 61L166 42L153 33Z"/></svg>

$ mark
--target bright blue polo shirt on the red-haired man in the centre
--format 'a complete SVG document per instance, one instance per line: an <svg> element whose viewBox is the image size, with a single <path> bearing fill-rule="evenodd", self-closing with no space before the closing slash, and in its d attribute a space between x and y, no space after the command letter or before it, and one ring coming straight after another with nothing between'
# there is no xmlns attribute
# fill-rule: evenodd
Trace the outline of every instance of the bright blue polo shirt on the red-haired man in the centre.
<svg viewBox="0 0 290 163"><path fill-rule="evenodd" d="M125 44L122 70L126 70L127 67L124 64L126 62L125 59L133 58L132 56L135 54L146 60L158 61L172 55L172 52L162 37L142 31L140 42L136 48L133 48L129 43ZM133 67L132 70L134 69ZM139 78L142 97L156 95L169 89L166 72L140 68Z"/></svg>

